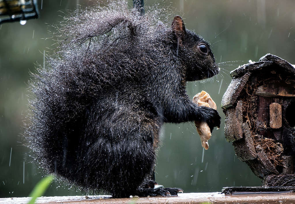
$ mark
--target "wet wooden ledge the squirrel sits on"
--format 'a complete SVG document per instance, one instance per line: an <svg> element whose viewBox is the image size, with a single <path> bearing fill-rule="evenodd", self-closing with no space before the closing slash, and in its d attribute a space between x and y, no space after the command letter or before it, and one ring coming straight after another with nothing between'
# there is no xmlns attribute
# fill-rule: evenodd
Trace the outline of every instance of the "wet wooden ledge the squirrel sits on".
<svg viewBox="0 0 295 204"><path fill-rule="evenodd" d="M30 198L0 198L0 203L27 203ZM63 204L116 204L116 203L295 203L295 193L224 195L220 193L183 193L171 197L139 197L139 198L103 198L101 196L55 196L41 197L37 203Z"/></svg>

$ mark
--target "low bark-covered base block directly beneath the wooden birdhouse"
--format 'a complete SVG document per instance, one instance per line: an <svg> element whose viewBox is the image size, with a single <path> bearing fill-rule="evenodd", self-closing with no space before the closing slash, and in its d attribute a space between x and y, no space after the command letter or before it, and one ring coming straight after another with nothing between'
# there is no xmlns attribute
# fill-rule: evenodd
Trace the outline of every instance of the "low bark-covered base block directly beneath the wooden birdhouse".
<svg viewBox="0 0 295 204"><path fill-rule="evenodd" d="M295 186L295 174L268 175L262 183L264 186Z"/></svg>

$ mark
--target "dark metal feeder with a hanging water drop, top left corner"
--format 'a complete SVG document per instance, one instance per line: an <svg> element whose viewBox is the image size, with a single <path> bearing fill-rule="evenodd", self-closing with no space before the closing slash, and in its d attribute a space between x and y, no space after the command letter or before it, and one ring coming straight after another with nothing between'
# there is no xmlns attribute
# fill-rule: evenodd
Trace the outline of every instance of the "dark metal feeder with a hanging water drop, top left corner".
<svg viewBox="0 0 295 204"><path fill-rule="evenodd" d="M25 24L28 19L38 17L37 0L0 0L0 24L13 21Z"/></svg>

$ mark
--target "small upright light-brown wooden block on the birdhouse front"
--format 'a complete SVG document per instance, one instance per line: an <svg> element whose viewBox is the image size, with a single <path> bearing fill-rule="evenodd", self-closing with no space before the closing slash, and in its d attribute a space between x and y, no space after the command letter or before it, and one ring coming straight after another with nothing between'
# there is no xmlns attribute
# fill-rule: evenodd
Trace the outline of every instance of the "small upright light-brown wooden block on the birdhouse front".
<svg viewBox="0 0 295 204"><path fill-rule="evenodd" d="M277 129L282 127L282 106L279 103L269 105L269 126Z"/></svg>

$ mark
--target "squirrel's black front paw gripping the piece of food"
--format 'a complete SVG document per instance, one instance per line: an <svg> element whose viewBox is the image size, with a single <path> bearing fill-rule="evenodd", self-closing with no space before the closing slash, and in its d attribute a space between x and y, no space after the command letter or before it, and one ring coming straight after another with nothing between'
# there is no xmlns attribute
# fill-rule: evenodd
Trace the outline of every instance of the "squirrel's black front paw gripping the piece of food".
<svg viewBox="0 0 295 204"><path fill-rule="evenodd" d="M210 132L213 131L214 127L220 127L221 117L219 116L217 110L205 106L200 106L199 108L202 109L203 112L201 121L204 121L208 124L210 127Z"/></svg>

